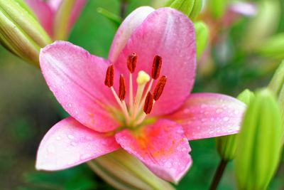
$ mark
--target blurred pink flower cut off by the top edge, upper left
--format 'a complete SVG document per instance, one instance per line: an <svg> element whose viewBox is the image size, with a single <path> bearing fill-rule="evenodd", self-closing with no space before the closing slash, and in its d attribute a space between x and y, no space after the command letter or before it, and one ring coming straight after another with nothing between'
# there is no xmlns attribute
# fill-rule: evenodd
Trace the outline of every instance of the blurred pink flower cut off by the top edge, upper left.
<svg viewBox="0 0 284 190"><path fill-rule="evenodd" d="M63 0L25 0L26 4L30 6L35 16L37 17L40 24L45 28L45 31L50 35L50 37L54 37L54 33L58 26L55 23L55 17L58 14L61 4ZM80 16L84 5L86 4L86 0L76 0L69 18L67 19L67 33L69 33L74 25L75 21Z"/></svg>

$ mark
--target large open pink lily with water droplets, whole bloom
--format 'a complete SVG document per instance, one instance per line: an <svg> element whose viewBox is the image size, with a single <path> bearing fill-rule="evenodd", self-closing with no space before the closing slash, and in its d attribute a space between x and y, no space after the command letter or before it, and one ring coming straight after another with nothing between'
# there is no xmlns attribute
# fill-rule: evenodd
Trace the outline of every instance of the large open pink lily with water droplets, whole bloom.
<svg viewBox="0 0 284 190"><path fill-rule="evenodd" d="M66 169L122 148L178 182L192 164L188 140L238 132L246 109L226 95L190 94L195 51L187 16L148 6L121 24L108 60L64 41L43 48L43 76L71 117L45 134L36 168Z"/></svg>

